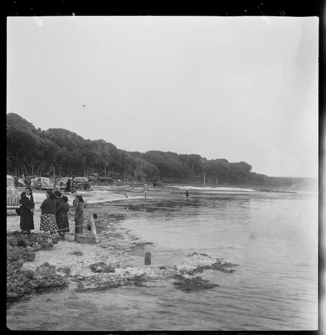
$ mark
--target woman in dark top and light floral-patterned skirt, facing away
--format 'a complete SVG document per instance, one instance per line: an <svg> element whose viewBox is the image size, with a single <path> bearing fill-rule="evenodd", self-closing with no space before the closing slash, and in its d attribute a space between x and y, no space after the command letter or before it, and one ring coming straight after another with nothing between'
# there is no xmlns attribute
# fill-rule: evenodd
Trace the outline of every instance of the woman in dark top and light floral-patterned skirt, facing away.
<svg viewBox="0 0 326 335"><path fill-rule="evenodd" d="M57 230L58 226L55 220L55 195L52 191L47 191L47 198L41 205L41 224L40 230L49 231L53 235Z"/></svg>

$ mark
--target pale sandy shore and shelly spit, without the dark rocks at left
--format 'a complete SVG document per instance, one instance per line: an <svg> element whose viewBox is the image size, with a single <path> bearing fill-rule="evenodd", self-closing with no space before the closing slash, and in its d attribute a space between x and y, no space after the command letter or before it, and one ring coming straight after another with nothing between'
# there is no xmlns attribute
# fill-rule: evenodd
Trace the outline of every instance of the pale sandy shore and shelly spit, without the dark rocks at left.
<svg viewBox="0 0 326 335"><path fill-rule="evenodd" d="M77 290L80 291L105 289L105 287L108 289L116 287L116 285L130 284L130 282L136 285L142 284L138 282L140 279L140 281L152 279L168 280L181 276L182 280L185 281L184 275L193 275L194 272L200 271L205 266L206 268L212 268L214 264L216 270L233 272L234 270L227 270L226 268L235 266L234 264L221 262L218 258L212 258L205 254L188 255L185 257L184 262L180 264L157 264L156 266L151 266L142 263L142 266L135 266L135 263L139 264L140 255L144 256L146 251L153 252L155 245L151 241L143 241L141 238L136 237L133 232L124 227L123 221L126 218L137 215L137 210L146 201L150 203L151 200L157 201L158 199L169 199L176 196L182 201L186 188L192 189L193 195L198 194L199 188L193 186L153 188L141 184L119 187L95 186L93 191L77 192L77 194L83 195L87 201L84 212L84 234L87 232L85 225L88 215L98 214L96 227L99 243L95 245L74 242L75 210L72 203L76 194L67 195L68 203L70 204L70 211L68 212L70 234L66 235L65 240L58 240L51 249L36 251L34 259L32 261L24 261L21 269L25 272L36 273L44 264L48 264L48 266L55 269L52 269L51 275L55 273L56 276L62 277L69 285L73 282L78 282ZM24 188L20 189L22 189L21 192L24 191ZM209 190L212 189L212 187L209 188ZM234 187L229 189L234 189ZM239 190L239 192L241 191ZM35 235L42 234L39 230L40 205L45 199L45 194L46 191L33 191L35 202L35 229L33 233ZM131 210L128 210L128 206L130 206ZM137 210L133 210L133 207L137 208ZM10 234L14 231L18 233L20 231L20 217L14 211L9 212L7 211L7 240L8 233ZM198 258L199 255L200 258ZM91 269L92 266L93 269ZM135 280L138 281L135 283ZM189 285L189 282L187 284ZM202 283L196 282L195 287L190 289L198 289L198 287L202 287L201 285ZM208 285L206 288L212 287Z"/></svg>

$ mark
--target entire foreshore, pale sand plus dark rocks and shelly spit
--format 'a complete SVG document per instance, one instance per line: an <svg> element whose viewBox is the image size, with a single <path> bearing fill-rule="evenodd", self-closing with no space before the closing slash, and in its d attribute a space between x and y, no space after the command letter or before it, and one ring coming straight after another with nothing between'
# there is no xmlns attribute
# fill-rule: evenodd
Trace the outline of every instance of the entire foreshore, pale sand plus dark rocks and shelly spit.
<svg viewBox="0 0 326 335"><path fill-rule="evenodd" d="M155 246L152 242L140 240L123 225L124 219L132 217L138 207L143 206L143 195L139 198L135 191L139 193L143 189L106 191L99 188L84 195L87 199L86 217L95 212L99 216L96 223L99 243L96 245L74 242L73 233L60 240L41 232L38 225L39 205L45 197L42 192L34 193L33 233L18 231L19 217L7 213L7 301L26 299L33 292L61 291L73 282L77 284L77 291L105 290L123 285L147 286L157 280L169 280L177 289L185 291L209 289L219 286L218 283L195 277L196 274L206 269L234 271L231 268L237 264L196 252L189 254L178 265L136 267L135 257L144 255L145 251L154 251ZM168 188L147 192L148 198L176 196L175 191ZM111 201L108 206L108 198L119 201ZM70 195L70 205L72 200L73 195ZM73 228L72 206L68 217Z"/></svg>

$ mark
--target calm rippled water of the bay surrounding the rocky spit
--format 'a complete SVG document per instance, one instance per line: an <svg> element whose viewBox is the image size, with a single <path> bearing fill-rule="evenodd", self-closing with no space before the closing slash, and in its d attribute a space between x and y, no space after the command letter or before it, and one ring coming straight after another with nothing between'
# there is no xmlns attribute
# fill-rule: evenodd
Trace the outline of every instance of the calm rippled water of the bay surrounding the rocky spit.
<svg viewBox="0 0 326 335"><path fill-rule="evenodd" d="M125 205L123 205L125 206ZM220 287L151 287L33 295L8 307L12 330L291 331L318 329L318 198L315 193L192 191L130 206L123 226L153 242L152 266L196 251L239 264L199 274ZM143 265L143 255L135 259Z"/></svg>

